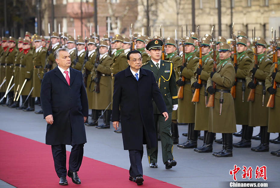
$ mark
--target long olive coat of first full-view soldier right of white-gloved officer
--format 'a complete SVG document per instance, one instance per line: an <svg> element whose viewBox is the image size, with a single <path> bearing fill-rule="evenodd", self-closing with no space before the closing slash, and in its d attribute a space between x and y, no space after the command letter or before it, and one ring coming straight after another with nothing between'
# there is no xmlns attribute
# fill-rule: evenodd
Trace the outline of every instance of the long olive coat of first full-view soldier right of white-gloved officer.
<svg viewBox="0 0 280 188"><path fill-rule="evenodd" d="M177 80L180 77L180 67L182 66L182 59L180 60L177 67ZM181 75L185 77L185 85L183 91L183 99L178 100L178 122L179 123L194 123L195 119L195 104L191 102L192 99L192 92L191 89L191 77L194 75L194 71L196 70L196 66L199 62L199 58L195 56L195 53L190 55L188 58L185 59L186 67L183 69ZM176 81L177 81L176 80ZM188 84L186 84L188 82Z"/></svg>

